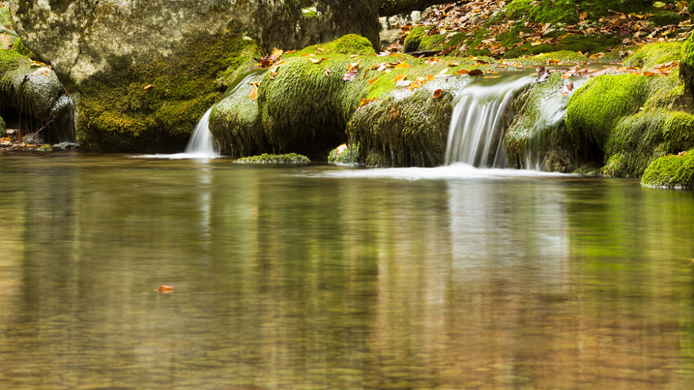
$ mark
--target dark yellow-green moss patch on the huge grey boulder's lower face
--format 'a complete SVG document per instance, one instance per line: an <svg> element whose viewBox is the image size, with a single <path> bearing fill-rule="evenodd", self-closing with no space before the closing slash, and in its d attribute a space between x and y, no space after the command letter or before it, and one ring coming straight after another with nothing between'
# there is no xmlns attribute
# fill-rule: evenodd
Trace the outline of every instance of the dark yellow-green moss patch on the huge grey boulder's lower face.
<svg viewBox="0 0 694 390"><path fill-rule="evenodd" d="M87 150L182 150L199 118L221 96L257 45L234 26L191 33L169 57L110 62L123 74L79 86L78 141ZM176 61L171 61L176 58ZM122 62L121 65L119 65Z"/></svg>

